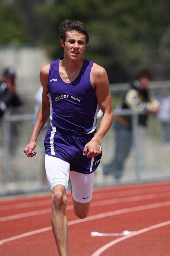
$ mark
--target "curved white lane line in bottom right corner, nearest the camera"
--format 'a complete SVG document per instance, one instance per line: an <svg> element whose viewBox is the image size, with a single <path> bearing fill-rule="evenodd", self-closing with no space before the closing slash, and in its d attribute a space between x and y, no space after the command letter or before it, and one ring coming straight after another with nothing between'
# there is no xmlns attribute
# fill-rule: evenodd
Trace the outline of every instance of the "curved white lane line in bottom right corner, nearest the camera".
<svg viewBox="0 0 170 256"><path fill-rule="evenodd" d="M136 235L140 235L140 234L143 234L145 232L148 232L150 230L153 230L153 229L157 229L157 228L161 228L163 226L167 226L167 225L170 225L170 220L168 220L167 222L162 222L162 223L159 223L159 224L155 224L153 226L149 226L147 228L144 228L144 229L140 229L138 231L136 231L135 233L133 234L130 234L130 235L127 235L127 236L123 236L121 238L117 238L111 242L109 242L108 244L102 246L101 248L99 248L97 251L95 251L91 256L99 256L102 254L102 252L106 251L109 247L121 242L121 241L124 241L128 238L131 238L132 236L136 236Z"/></svg>

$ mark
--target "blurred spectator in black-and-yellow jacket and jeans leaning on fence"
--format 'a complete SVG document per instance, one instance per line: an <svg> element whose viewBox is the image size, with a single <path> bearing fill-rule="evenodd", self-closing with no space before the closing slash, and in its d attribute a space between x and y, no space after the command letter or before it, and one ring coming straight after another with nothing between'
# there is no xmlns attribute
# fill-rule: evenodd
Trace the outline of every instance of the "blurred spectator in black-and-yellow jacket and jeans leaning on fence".
<svg viewBox="0 0 170 256"><path fill-rule="evenodd" d="M148 69L140 70L136 74L135 80L132 81L130 89L125 93L123 102L117 107L120 115L115 115L113 122L115 129L115 155L109 164L103 166L104 175L113 174L116 179L122 177L125 161L132 148L132 115L121 114L122 111L133 109L141 112L138 116L138 125L142 129L138 127L138 130L141 130L142 133L138 136L138 139L142 140L143 149L148 114L156 114L159 110L159 102L152 98L148 91L148 84L151 78L152 75ZM141 145L139 148L141 148ZM139 153L142 161L143 152Z"/></svg>

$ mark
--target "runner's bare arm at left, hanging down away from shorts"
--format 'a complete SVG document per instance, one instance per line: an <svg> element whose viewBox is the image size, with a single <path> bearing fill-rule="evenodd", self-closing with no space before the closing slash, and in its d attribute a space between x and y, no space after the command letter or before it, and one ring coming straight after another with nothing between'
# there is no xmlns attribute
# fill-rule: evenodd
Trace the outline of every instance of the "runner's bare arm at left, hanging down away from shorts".
<svg viewBox="0 0 170 256"><path fill-rule="evenodd" d="M46 121L49 118L50 106L49 106L49 99L47 96L48 75L49 75L49 65L42 66L40 70L40 82L43 86L42 103L39 107L37 117L35 119L35 124L34 124L30 142L24 149L24 153L28 157L33 157L34 155L37 154L37 151L34 151L33 153L32 151L36 147L36 141L40 131L42 130L43 126L45 125Z"/></svg>

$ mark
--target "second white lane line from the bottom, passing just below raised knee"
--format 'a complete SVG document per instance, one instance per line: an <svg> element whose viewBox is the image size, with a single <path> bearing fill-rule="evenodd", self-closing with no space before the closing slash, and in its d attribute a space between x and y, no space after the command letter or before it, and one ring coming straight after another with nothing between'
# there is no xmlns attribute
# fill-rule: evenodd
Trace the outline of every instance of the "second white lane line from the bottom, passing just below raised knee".
<svg viewBox="0 0 170 256"><path fill-rule="evenodd" d="M130 212L136 212L136 211L140 211L140 210L148 210L148 209L154 209L154 208L166 207L166 206L170 206L170 201L154 203L154 204L147 204L147 205L143 205L143 206L130 207L130 208L125 208L125 209L120 209L120 210L114 210L112 212L99 213L96 215L89 216L86 219L70 220L68 222L68 225L70 226L70 225L74 225L74 224L78 224L78 223L82 223L82 222L87 222L90 220L96 220L96 219L100 219L100 218L110 217L113 215L119 215L119 214L123 214L123 213L130 213ZM51 229L51 226L43 228L43 229L37 229L37 230L33 230L31 232L23 233L18 236L12 236L11 238L6 238L3 240L0 240L0 245L4 244L5 242L10 242L12 240L23 238L23 237L26 237L29 235L42 233L42 232L48 231L50 229Z"/></svg>

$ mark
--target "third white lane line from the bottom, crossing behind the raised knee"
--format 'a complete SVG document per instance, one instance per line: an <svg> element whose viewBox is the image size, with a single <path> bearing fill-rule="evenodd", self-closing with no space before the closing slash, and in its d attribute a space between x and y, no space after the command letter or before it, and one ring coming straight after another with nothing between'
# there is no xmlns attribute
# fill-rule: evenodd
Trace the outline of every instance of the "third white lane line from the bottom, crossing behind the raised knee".
<svg viewBox="0 0 170 256"><path fill-rule="evenodd" d="M128 202L149 200L149 199L154 199L154 198L164 198L164 197L170 197L170 192L97 201L97 202L92 202L91 207L104 206L104 205L117 204L117 203L128 203ZM67 210L72 210L72 209L73 209L72 205L67 206ZM51 212L51 209L42 209L42 210L36 210L36 211L32 211L32 212L27 212L27 213L13 214L13 215L5 216L5 217L0 217L0 222L5 222L8 220L13 220L13 219L26 218L26 217L31 217L31 216L35 216L35 215L48 214L50 212Z"/></svg>

